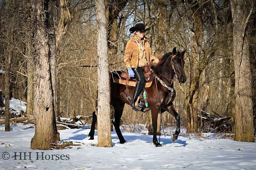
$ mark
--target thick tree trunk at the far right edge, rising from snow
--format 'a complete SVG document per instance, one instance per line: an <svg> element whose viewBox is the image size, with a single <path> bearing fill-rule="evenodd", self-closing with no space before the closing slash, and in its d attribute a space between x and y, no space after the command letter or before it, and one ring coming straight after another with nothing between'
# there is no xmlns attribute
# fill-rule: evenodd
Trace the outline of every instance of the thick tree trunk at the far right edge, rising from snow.
<svg viewBox="0 0 256 170"><path fill-rule="evenodd" d="M247 22L253 11L252 0L231 0L233 18L233 55L235 68L236 129L235 140L254 141L252 74Z"/></svg>

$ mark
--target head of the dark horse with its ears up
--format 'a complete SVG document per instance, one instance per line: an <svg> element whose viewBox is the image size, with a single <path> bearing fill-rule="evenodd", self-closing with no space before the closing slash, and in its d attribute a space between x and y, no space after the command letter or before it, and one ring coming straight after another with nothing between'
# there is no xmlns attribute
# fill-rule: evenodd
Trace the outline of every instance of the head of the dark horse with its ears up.
<svg viewBox="0 0 256 170"><path fill-rule="evenodd" d="M186 82L186 74L184 71L184 54L186 50L182 52L177 52L176 47L172 50L172 59L171 59L171 65L172 69L175 71L175 74L177 75L177 78L180 83Z"/></svg>

